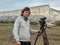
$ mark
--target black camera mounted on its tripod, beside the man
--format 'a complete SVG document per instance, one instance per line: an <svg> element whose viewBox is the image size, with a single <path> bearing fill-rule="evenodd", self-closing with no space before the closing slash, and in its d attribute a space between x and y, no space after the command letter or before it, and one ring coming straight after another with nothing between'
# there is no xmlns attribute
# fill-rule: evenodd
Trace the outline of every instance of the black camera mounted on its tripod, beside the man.
<svg viewBox="0 0 60 45"><path fill-rule="evenodd" d="M44 18L41 18L41 20L39 21L39 24L41 25L40 29L42 30L42 32L38 32L38 35L36 37L36 40L34 42L34 45L36 45L36 42L38 40L38 37L42 34L43 35L43 43L44 45L49 45L49 42L48 42L48 38L47 38L47 35L46 35L46 22L45 22L45 17Z"/></svg>

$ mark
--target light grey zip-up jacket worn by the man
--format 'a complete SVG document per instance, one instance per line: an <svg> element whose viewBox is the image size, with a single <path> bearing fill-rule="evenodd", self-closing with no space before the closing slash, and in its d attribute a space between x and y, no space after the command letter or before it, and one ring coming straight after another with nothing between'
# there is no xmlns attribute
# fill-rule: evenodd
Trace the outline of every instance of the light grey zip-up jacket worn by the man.
<svg viewBox="0 0 60 45"><path fill-rule="evenodd" d="M30 41L31 33L36 33L37 30L30 29L29 20L25 21L24 17L19 16L14 24L13 35L16 41Z"/></svg>

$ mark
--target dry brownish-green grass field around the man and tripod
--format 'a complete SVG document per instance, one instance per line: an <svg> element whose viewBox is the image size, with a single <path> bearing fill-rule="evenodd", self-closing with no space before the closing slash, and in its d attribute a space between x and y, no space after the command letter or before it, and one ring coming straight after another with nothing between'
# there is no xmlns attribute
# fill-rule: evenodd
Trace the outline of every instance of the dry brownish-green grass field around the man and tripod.
<svg viewBox="0 0 60 45"><path fill-rule="evenodd" d="M37 29L38 25L31 24L31 28ZM0 45L16 45L12 35L13 24L12 23L0 23ZM55 26L51 29L46 29L49 45L60 45L60 27ZM31 35L31 43L34 44L37 34ZM43 45L42 35L38 38L36 45Z"/></svg>

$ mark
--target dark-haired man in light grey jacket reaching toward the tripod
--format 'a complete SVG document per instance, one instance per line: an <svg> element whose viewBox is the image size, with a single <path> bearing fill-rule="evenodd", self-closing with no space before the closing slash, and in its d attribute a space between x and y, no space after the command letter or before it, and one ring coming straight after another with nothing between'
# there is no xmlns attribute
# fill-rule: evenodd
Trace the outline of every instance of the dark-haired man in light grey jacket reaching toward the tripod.
<svg viewBox="0 0 60 45"><path fill-rule="evenodd" d="M25 7L21 12L21 16L15 21L13 35L17 45L31 45L30 34L39 32L39 30L30 29L30 21L28 19L30 13L30 8Z"/></svg>

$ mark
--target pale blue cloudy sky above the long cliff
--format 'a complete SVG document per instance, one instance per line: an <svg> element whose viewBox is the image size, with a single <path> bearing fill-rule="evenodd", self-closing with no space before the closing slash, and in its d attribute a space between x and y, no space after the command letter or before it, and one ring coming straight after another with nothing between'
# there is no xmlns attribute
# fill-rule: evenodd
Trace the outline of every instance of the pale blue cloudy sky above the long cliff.
<svg viewBox="0 0 60 45"><path fill-rule="evenodd" d="M60 0L0 0L0 11L22 9L49 4L51 8L60 10Z"/></svg>

